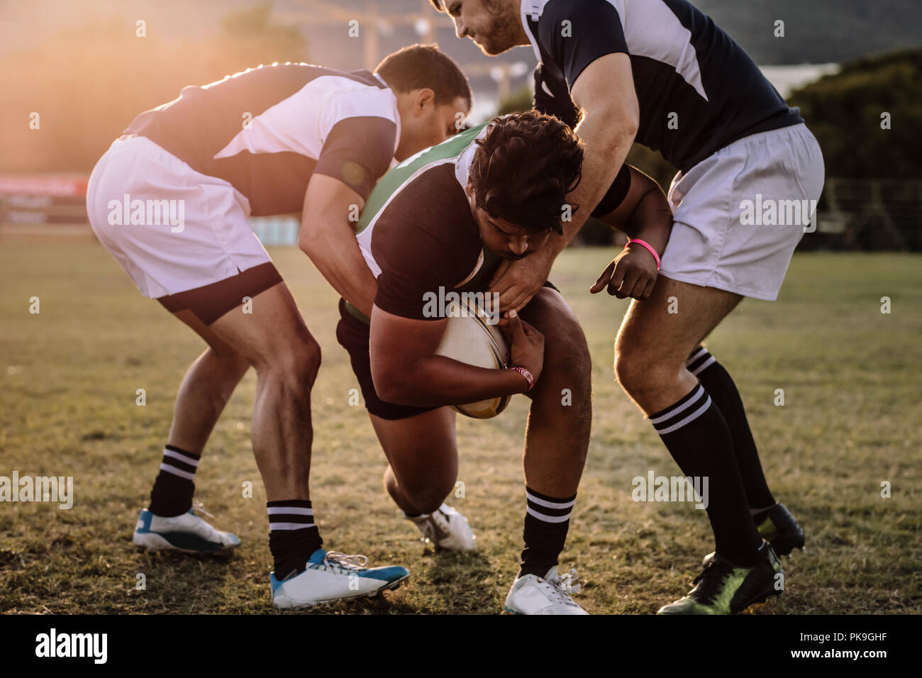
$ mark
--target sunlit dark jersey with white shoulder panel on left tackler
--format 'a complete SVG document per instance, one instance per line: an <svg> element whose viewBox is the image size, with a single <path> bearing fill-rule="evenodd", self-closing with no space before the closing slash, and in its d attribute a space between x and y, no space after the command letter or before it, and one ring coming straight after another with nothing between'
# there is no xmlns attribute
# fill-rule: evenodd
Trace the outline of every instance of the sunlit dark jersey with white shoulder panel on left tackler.
<svg viewBox="0 0 922 678"><path fill-rule="evenodd" d="M368 71L260 65L141 113L125 130L224 179L254 215L299 212L313 172L363 198L390 167L396 97Z"/></svg>

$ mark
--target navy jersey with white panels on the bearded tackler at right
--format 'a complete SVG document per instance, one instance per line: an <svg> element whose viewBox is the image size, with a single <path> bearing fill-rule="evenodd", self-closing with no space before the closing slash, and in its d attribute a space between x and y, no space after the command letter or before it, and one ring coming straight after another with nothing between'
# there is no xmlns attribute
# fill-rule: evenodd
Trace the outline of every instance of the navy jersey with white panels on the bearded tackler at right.
<svg viewBox="0 0 922 678"><path fill-rule="evenodd" d="M570 89L606 54L631 58L636 140L687 171L741 137L803 120L759 67L688 0L523 0L538 57L535 107L573 125Z"/></svg>

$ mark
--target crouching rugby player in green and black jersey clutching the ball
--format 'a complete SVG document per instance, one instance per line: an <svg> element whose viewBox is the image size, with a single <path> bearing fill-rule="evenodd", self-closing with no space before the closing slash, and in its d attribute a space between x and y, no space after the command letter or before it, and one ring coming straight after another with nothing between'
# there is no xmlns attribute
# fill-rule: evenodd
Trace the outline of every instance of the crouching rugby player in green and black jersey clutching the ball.
<svg viewBox="0 0 922 678"><path fill-rule="evenodd" d="M473 547L467 519L443 504L458 465L455 412L445 406L515 393L531 399L525 549L505 602L514 613L585 613L557 572L589 441L585 336L560 292L545 283L521 313L500 321L513 364L474 367L435 355L448 320L432 315L426 299L443 296L440 290L483 292L502 261L536 256L562 232L564 198L582 159L567 125L528 112L472 127L402 163L374 189L359 224L377 289L340 302L337 338L389 462L385 488L437 546ZM658 221L668 232L666 196L632 172L636 180L612 224Z"/></svg>

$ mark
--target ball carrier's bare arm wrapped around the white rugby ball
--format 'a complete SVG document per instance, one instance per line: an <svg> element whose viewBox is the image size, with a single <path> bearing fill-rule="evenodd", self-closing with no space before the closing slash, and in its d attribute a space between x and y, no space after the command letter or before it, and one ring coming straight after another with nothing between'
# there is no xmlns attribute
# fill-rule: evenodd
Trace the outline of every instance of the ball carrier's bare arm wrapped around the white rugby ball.
<svg viewBox="0 0 922 678"><path fill-rule="evenodd" d="M447 318L417 320L372 308L372 381L378 396L396 405L439 407L511 396L528 390L514 370L491 370L436 355ZM521 318L510 319L503 333L513 363L536 379L544 362L544 337Z"/></svg>

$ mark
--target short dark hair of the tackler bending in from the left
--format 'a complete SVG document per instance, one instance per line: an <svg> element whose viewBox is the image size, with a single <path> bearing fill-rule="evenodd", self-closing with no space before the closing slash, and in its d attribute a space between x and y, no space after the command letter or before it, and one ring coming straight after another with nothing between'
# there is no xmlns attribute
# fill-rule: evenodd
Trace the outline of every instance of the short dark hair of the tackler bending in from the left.
<svg viewBox="0 0 922 678"><path fill-rule="evenodd" d="M474 101L467 77L436 44L414 44L388 54L374 72L398 92L431 89L435 92L436 106L458 97L466 100L468 106Z"/></svg>

